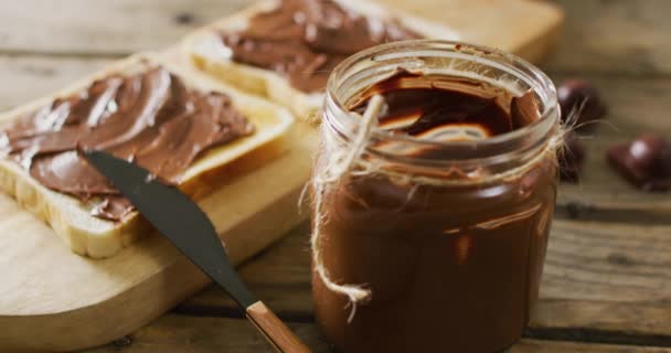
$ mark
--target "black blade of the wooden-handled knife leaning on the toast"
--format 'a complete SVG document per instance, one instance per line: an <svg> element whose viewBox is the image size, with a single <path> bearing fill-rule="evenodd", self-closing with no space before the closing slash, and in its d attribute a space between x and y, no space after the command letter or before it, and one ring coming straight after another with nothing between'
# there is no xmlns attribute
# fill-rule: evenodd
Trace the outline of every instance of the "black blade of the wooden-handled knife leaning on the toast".
<svg viewBox="0 0 671 353"><path fill-rule="evenodd" d="M257 300L233 268L207 215L179 189L166 185L146 169L103 151L86 159L132 203L149 223L244 309Z"/></svg>

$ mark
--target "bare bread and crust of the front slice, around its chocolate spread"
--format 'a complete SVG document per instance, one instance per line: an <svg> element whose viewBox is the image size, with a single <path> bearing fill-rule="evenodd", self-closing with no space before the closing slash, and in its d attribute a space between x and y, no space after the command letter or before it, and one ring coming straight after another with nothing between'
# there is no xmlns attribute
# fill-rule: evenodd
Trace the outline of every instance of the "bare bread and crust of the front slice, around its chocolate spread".
<svg viewBox="0 0 671 353"><path fill-rule="evenodd" d="M50 104L55 97L68 96L87 87L97 78L113 73L134 74L156 65L162 65L178 75L189 88L227 94L232 97L234 107L255 126L253 135L212 148L196 159L183 174L180 189L193 197L199 197L209 193L212 188L216 188L217 181L230 178L231 173L237 175L241 171L257 167L259 161L267 161L281 152L281 137L294 124L288 110L238 93L189 66L171 62L166 55L155 54L131 56L70 88L2 114L0 128ZM31 213L50 224L72 250L81 255L94 258L110 257L150 229L137 212L120 222L92 216L90 206L77 199L44 188L10 159L0 159L0 190L12 195Z"/></svg>

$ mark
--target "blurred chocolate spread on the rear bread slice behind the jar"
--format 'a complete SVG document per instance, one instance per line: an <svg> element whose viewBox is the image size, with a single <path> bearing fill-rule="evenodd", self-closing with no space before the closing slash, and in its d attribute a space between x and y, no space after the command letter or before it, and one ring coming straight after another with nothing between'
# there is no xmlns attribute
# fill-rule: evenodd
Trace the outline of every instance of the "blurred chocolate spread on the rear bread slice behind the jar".
<svg viewBox="0 0 671 353"><path fill-rule="evenodd" d="M223 33L233 61L275 71L305 93L322 90L331 71L356 52L419 38L398 21L363 17L333 0L283 0L244 31Z"/></svg>

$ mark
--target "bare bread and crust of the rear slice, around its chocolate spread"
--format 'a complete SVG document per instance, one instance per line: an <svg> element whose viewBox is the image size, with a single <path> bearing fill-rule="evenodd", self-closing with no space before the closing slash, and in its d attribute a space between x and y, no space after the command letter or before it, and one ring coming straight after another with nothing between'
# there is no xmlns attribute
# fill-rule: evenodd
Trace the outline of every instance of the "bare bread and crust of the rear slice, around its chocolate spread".
<svg viewBox="0 0 671 353"><path fill-rule="evenodd" d="M458 40L456 31L448 26L395 11L374 3L360 0L334 0L341 7L365 17L382 20L397 20L409 30L427 39ZM271 11L279 6L277 0L260 1L236 14L222 19L189 35L182 43L182 50L200 69L235 87L289 108L297 117L313 120L321 107L323 94L307 94L296 89L285 77L252 65L231 60L232 52L221 39L221 31L241 31L247 26L248 19L260 12Z"/></svg>

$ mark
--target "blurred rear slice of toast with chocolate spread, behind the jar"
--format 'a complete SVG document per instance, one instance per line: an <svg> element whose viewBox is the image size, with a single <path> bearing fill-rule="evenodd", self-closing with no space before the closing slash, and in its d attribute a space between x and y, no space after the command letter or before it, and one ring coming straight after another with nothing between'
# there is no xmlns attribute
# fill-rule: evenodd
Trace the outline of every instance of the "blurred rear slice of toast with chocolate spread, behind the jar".
<svg viewBox="0 0 671 353"><path fill-rule="evenodd" d="M312 118L341 61L376 44L414 39L458 35L371 1L266 0L196 31L182 49L209 74Z"/></svg>

